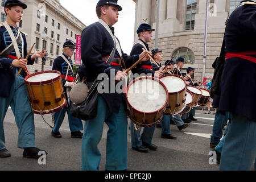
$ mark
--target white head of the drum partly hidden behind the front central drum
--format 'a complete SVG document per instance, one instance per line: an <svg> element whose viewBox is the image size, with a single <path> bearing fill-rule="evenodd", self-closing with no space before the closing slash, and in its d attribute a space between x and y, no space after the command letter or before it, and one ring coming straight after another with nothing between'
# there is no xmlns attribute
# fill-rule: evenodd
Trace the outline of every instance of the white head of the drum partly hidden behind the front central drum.
<svg viewBox="0 0 256 182"><path fill-rule="evenodd" d="M160 81L162 81L163 84L166 85L166 88L169 93L177 93L185 88L184 80L177 76L164 76L160 78Z"/></svg>

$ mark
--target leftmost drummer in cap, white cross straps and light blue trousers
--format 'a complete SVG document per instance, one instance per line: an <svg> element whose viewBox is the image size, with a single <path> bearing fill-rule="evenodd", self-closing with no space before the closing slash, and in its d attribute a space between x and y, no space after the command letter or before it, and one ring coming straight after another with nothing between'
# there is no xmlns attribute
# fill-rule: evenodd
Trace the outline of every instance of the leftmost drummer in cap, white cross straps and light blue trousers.
<svg viewBox="0 0 256 182"><path fill-rule="evenodd" d="M34 64L36 57L44 57L45 51L27 56L26 34L19 31L17 23L22 19L23 10L27 5L18 0L5 2L6 22L0 25L0 158L10 157L10 151L5 146L3 120L9 105L15 115L18 126L18 148L24 148L23 158L39 158L46 151L35 147L34 114L28 100L24 77L28 72L27 64ZM13 46L11 46L13 45ZM19 76L16 76L22 68Z"/></svg>

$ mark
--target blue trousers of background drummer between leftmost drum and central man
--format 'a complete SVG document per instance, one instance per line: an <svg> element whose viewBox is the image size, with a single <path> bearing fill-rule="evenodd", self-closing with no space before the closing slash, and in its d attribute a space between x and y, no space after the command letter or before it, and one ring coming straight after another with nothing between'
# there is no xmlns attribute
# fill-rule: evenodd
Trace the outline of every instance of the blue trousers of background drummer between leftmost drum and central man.
<svg viewBox="0 0 256 182"><path fill-rule="evenodd" d="M68 124L69 124L70 131L75 132L75 131L84 130L84 127L82 126L81 119L73 117L70 114L70 108L71 107L65 106L63 109L61 109L53 114L54 115L54 127L52 129L53 132L55 132L55 133L59 132L60 126L63 123L66 112L68 114Z"/></svg>

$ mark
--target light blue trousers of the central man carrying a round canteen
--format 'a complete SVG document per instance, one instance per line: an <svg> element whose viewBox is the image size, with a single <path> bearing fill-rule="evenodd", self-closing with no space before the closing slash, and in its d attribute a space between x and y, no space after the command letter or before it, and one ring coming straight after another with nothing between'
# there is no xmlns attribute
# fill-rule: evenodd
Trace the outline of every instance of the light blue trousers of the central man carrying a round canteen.
<svg viewBox="0 0 256 182"><path fill-rule="evenodd" d="M127 169L127 114L121 103L119 113L109 113L104 98L98 97L96 118L85 121L82 137L82 167L84 171L98 171L101 153L98 143L102 138L104 122L109 130L106 141L106 166L109 171Z"/></svg>

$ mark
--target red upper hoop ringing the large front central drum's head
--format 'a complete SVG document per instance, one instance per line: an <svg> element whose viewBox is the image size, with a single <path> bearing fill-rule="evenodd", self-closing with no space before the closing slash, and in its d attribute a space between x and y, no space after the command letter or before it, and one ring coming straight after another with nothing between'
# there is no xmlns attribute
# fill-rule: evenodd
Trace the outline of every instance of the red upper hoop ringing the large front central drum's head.
<svg viewBox="0 0 256 182"><path fill-rule="evenodd" d="M136 81L138 81L138 80L145 80L145 79L148 79L148 78L150 78L151 80L154 80L154 81L158 81L159 84L162 85L163 88L166 90L166 103L165 103L160 109L155 110L155 111L152 111L152 112L150 112L150 113L142 112L142 111L140 111L140 110L138 110L138 109L135 109L135 108L131 105L131 103L129 102L129 100L127 99L127 98L128 98L128 92L129 92L130 86L133 85L133 84L134 84ZM128 102L128 104L129 104L135 111L138 111L139 113L144 113L144 114L153 114L153 113L158 112L159 110L164 109L164 107L166 107L167 104L168 104L168 98L169 98L168 90L167 90L167 88L166 88L166 85L164 85L162 81L158 80L158 78L151 77L151 76L142 76L142 77L135 78L135 79L134 79L133 81L131 81L130 84L127 86L127 92L126 92L125 94L126 94L126 101Z"/></svg>

